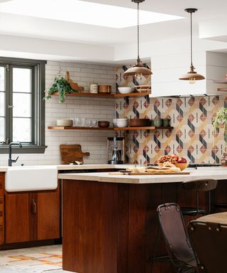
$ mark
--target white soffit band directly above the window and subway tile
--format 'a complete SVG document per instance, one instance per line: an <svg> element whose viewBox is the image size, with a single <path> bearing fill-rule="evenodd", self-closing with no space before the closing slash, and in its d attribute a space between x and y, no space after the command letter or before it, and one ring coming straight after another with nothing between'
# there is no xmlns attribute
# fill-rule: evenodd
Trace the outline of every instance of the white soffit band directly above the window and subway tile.
<svg viewBox="0 0 227 273"><path fill-rule="evenodd" d="M0 55L5 57L44 60L72 60L79 62L110 63L114 60L114 47L88 43L53 41L41 38L0 34Z"/></svg>

